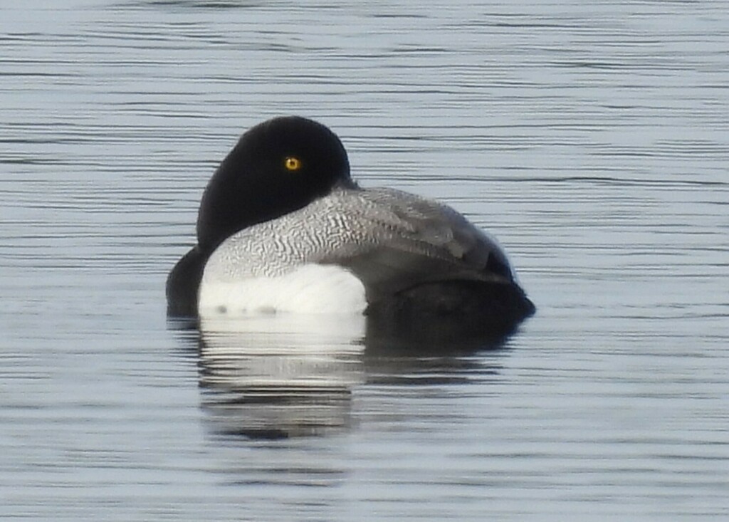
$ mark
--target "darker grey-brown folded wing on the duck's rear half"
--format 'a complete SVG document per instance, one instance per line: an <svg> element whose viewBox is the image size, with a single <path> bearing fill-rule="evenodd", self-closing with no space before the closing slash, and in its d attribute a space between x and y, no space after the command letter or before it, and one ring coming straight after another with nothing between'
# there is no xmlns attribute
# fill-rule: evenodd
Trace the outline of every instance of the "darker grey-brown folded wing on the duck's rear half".
<svg viewBox="0 0 729 522"><path fill-rule="evenodd" d="M340 210L351 238L319 262L352 270L370 302L426 283L512 283L499 244L450 207L389 189L363 190L359 198L364 204Z"/></svg>

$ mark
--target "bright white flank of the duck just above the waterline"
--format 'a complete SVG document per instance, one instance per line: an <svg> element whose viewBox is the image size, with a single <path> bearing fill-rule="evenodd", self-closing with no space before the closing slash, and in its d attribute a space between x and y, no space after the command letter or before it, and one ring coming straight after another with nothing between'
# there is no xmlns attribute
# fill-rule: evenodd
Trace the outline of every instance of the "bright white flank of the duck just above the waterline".
<svg viewBox="0 0 729 522"><path fill-rule="evenodd" d="M256 313L362 313L364 284L337 265L300 265L276 277L238 281L203 277L201 317Z"/></svg>

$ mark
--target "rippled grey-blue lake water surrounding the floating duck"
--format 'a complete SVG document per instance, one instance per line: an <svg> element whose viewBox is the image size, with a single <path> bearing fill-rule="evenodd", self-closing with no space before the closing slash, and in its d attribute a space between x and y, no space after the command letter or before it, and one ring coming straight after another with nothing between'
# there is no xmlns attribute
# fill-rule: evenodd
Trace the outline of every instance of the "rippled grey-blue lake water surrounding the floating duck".
<svg viewBox="0 0 729 522"><path fill-rule="evenodd" d="M7 1L0 45L3 520L729 517L725 1ZM168 322L279 114L494 233L537 315L450 357Z"/></svg>

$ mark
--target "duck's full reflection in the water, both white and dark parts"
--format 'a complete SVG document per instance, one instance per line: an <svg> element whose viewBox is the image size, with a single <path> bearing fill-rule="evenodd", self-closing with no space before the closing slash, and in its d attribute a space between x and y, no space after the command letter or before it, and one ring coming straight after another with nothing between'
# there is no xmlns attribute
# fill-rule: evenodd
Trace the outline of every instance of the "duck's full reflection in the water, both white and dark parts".
<svg viewBox="0 0 729 522"><path fill-rule="evenodd" d="M469 357L495 344L438 345L409 335L393 338L365 324L364 316L330 319L321 314L200 319L200 389L212 432L254 439L329 435L359 424L362 414L383 413L357 400L353 414L353 396L364 383L464 384L497 371L483 357ZM177 319L170 326L195 328Z"/></svg>

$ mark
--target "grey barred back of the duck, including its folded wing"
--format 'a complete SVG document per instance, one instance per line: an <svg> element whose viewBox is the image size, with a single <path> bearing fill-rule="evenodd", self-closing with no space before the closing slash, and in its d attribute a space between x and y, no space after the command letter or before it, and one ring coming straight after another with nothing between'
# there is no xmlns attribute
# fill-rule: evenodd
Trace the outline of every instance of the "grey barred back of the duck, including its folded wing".
<svg viewBox="0 0 729 522"><path fill-rule="evenodd" d="M489 270L494 262L506 271ZM426 281L512 280L496 241L461 214L384 188L335 189L303 209L235 233L211 255L203 280L281 276L307 263L343 265L370 294Z"/></svg>

